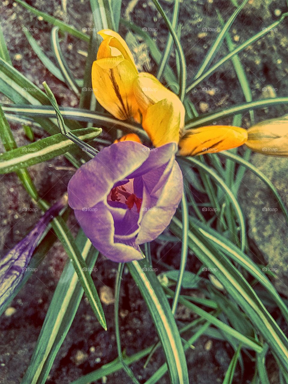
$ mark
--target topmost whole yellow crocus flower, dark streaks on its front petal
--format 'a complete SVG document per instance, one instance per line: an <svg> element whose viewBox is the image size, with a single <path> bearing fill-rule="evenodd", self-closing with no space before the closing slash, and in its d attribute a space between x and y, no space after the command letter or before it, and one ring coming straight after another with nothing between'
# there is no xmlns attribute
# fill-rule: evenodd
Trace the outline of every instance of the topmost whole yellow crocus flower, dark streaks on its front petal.
<svg viewBox="0 0 288 384"><path fill-rule="evenodd" d="M133 92L138 76L133 56L118 33L104 29L103 38L92 66L92 87L95 97L108 112L120 120L140 121L139 108Z"/></svg>

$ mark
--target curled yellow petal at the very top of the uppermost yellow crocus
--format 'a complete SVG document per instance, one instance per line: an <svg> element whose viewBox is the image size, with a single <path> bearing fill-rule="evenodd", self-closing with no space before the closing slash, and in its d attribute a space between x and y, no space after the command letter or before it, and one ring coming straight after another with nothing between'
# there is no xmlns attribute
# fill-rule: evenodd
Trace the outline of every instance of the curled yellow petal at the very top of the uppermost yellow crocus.
<svg viewBox="0 0 288 384"><path fill-rule="evenodd" d="M103 41L100 44L98 54L97 54L97 59L104 59L108 57L122 55L124 59L130 61L130 63L136 69L135 61L131 51L129 50L125 40L122 39L122 37L117 32L112 31L110 29L103 29L98 32L98 35L100 35L103 38ZM101 48L102 44L103 46ZM111 48L110 51L108 50L108 46ZM115 49L113 50L113 48Z"/></svg>

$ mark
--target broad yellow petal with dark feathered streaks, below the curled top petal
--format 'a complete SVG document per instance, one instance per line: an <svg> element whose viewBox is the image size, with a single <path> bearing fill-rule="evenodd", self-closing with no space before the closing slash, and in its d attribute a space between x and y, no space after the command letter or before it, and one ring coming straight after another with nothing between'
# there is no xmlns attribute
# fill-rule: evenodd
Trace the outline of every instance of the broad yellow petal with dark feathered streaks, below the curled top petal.
<svg viewBox="0 0 288 384"><path fill-rule="evenodd" d="M136 68L122 56L96 60L92 66L92 87L98 103L120 120L133 116L139 119L133 92L136 78Z"/></svg>

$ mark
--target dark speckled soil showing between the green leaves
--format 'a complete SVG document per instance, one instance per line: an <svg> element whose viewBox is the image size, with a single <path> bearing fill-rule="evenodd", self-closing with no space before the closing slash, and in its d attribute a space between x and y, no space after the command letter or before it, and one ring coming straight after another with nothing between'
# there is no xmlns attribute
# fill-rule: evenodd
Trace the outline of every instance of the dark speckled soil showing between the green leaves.
<svg viewBox="0 0 288 384"><path fill-rule="evenodd" d="M88 0L68 2L68 15L63 13L60 0L53 2L28 0L26 2L69 22L79 29L91 26ZM151 35L157 41L159 48L163 50L167 39L167 29L152 2L140 0L134 8L132 3L123 1L122 14L126 17L129 16L141 28L157 28L157 31L151 32ZM173 2L167 0L161 1L161 4L171 16ZM266 0L264 2L250 0L231 28L235 45L239 45L274 22L278 18L276 16L278 11L275 12L275 10L282 13L286 12L285 4L284 0ZM127 6L131 10L128 15ZM211 0L183 0L180 4L179 25L182 25L181 41L188 66L188 84L191 83L200 62L217 36L215 28L218 30L220 28L220 22L215 12L216 8L220 10L225 20L235 9L232 2L228 0L215 0L214 2ZM38 20L9 0L2 1L0 12L5 40L15 68L40 86L41 89L43 89L41 83L45 80L55 93L60 105L77 106L78 99L76 96L45 69L31 50L22 31L22 25L31 28L30 33L40 43L45 53L53 58L50 50L51 26L43 20ZM280 26L277 26L277 30L268 33L253 45L248 46L239 55L252 88L253 100L268 97L267 93L273 96L273 89L277 96L286 96L286 89L288 88L288 63L286 59L288 37L285 32L287 26L287 21L284 21ZM36 31L33 31L33 28ZM214 31L212 31L213 29ZM127 31L121 26L120 32L124 36ZM62 43L62 48L74 75L82 78L85 58L79 55L77 50L85 50L87 45L73 36L67 36ZM220 58L226 53L227 49L224 43L217 57ZM172 52L171 65L173 65L173 60L174 52ZM151 66L151 72L156 73L156 65L152 60ZM214 93L209 93L204 88L214 89ZM265 91L264 88L269 90ZM245 99L231 62L225 63L209 79L199 84L191 92L191 100L199 113L227 108L233 104L244 102ZM2 101L8 102L5 97L2 97ZM258 110L256 116L257 119L263 120L268 116L279 116L287 112L288 108L281 106L278 109ZM243 124L249 125L248 113L244 115ZM21 126L12 124L12 129L19 145L28 143ZM35 137L36 139L43 137L43 131L35 129ZM40 195L52 202L65 192L73 169L68 161L61 156L45 164L31 167L31 174ZM13 247L28 233L37 222L40 212L23 210L23 208L34 207L34 205L15 174L4 175L0 177L0 181L0 251L1 255L4 255L8 248ZM70 215L68 224L73 233L76 233L78 226L73 214ZM174 246L167 245L157 256L156 251L159 250L157 245L152 248L153 256L177 269L180 259L179 247L179 243ZM60 242L57 242L47 253L38 271L31 276L28 283L11 303L15 312L11 316L5 314L2 316L0 324L0 338L2 340L0 345L0 383L18 384L21 382L66 258ZM98 271L93 272L92 276L98 291L103 286L113 290L117 265L100 256L96 267ZM198 260L190 255L187 269L195 272L199 267ZM157 273L161 272L160 264L157 264L157 268ZM157 340L157 334L146 305L127 271L122 282L120 308L122 348L126 350L127 355L136 353ZM104 312L108 320L107 332L101 329L88 301L83 298L68 336L55 359L47 380L48 384L68 384L117 357L113 305L104 304ZM186 324L193 318L192 313L179 306L177 321ZM207 343L208 341L207 337L200 337L195 343L195 349L189 349L187 353L190 382L195 384L221 383L233 356L233 350L227 343L213 340L211 344L210 341ZM164 356L158 350L146 369L143 369L144 362L145 359L132 365L132 370L141 383L146 381L161 366L164 362ZM272 366L270 372L273 370ZM253 369L250 370L247 367L245 377L240 379L239 369L236 376L238 381L234 382L249 383L252 375ZM124 372L119 371L98 382L126 383L129 380ZM164 376L159 383L169 383L169 377ZM271 383L273 383L272 377Z"/></svg>

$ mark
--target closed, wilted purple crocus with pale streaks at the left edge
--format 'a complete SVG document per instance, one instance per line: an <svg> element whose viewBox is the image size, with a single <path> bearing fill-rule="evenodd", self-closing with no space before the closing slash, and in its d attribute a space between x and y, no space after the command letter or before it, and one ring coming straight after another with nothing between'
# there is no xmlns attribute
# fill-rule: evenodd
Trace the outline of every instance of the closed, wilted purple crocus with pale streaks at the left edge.
<svg viewBox="0 0 288 384"><path fill-rule="evenodd" d="M50 220L67 204L67 195L40 218L35 227L0 260L0 310L23 278L31 256Z"/></svg>

